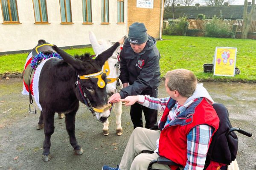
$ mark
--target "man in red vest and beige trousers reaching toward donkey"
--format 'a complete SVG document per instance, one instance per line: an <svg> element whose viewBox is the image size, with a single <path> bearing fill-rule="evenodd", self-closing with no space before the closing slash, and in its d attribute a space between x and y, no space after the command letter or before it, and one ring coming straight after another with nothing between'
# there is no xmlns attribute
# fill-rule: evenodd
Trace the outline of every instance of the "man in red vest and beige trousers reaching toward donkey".
<svg viewBox="0 0 256 170"><path fill-rule="evenodd" d="M146 170L148 164L164 156L185 170L203 170L209 144L218 129L219 118L212 108L212 98L203 84L198 84L192 71L177 69L166 73L169 97L128 96L120 101L125 106L135 102L163 111L159 130L137 127L128 141L120 165L107 165L102 170ZM143 150L154 153L142 153ZM176 170L177 166L154 164L154 168Z"/></svg>

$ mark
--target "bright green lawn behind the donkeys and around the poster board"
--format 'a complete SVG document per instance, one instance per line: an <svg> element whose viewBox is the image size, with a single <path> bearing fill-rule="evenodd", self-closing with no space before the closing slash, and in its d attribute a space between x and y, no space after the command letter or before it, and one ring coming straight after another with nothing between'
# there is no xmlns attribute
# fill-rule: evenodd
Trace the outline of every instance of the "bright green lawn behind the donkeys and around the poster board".
<svg viewBox="0 0 256 170"><path fill-rule="evenodd" d="M193 71L199 80L227 82L256 82L256 40L183 37L163 35L162 41L157 41L160 51L160 68L163 77L167 71L186 68ZM236 67L241 71L235 77L213 76L204 73L203 64L212 63L215 47L236 47ZM93 53L92 48L65 50L67 53ZM10 73L22 73L27 54L12 54L0 56L0 76Z"/></svg>

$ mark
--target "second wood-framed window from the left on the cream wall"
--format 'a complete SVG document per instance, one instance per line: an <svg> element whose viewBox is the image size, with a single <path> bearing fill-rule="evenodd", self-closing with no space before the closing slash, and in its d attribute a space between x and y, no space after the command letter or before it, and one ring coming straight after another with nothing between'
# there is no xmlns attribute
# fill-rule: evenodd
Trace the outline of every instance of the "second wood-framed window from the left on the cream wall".
<svg viewBox="0 0 256 170"><path fill-rule="evenodd" d="M33 0L35 23L48 23L46 0Z"/></svg>

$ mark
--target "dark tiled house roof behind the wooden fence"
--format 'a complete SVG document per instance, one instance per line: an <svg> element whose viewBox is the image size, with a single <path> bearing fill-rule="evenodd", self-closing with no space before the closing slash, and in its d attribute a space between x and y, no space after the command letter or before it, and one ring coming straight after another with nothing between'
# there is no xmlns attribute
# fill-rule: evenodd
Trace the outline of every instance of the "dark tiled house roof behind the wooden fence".
<svg viewBox="0 0 256 170"><path fill-rule="evenodd" d="M247 13L251 10L248 5ZM187 19L195 19L198 14L204 14L206 18L221 17L223 19L243 19L244 5L230 5L230 6L175 6L174 18L186 16ZM164 9L164 18L173 17L173 7L169 6Z"/></svg>

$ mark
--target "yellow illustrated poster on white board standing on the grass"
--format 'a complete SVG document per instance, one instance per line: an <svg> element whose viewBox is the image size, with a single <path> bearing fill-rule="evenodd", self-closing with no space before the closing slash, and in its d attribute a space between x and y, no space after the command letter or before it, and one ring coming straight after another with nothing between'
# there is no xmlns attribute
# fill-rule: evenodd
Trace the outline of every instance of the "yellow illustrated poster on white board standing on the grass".
<svg viewBox="0 0 256 170"><path fill-rule="evenodd" d="M216 47L213 60L214 76L235 76L237 48Z"/></svg>

